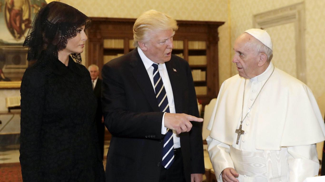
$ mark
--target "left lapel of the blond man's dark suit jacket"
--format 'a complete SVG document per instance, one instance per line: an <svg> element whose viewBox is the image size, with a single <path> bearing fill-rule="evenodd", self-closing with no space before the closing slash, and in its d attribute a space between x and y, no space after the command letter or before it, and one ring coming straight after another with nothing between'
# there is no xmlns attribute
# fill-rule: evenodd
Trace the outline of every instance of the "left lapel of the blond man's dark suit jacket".
<svg viewBox="0 0 325 182"><path fill-rule="evenodd" d="M137 48L133 50L130 65L131 73L136 79L136 82L141 88L142 92L146 96L146 99L148 100L152 110L154 112L160 112L155 91L153 90L148 72L140 58Z"/></svg>

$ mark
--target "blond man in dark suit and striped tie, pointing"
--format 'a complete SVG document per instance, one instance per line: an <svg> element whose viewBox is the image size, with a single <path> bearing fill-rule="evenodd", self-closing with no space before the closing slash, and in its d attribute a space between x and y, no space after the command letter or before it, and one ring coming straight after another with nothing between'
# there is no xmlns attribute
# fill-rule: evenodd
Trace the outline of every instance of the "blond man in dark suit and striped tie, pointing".
<svg viewBox="0 0 325 182"><path fill-rule="evenodd" d="M202 181L203 119L188 62L171 54L177 29L149 10L134 24L136 48L103 66L106 181Z"/></svg>

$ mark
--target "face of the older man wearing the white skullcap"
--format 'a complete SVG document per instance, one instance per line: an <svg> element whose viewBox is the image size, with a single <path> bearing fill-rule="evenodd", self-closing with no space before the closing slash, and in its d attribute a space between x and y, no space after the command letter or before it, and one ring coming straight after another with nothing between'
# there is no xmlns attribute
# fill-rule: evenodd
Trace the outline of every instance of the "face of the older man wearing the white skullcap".
<svg viewBox="0 0 325 182"><path fill-rule="evenodd" d="M248 33L240 35L234 44L235 55L232 59L236 63L239 76L243 78L253 78L259 75L258 60L255 38Z"/></svg>

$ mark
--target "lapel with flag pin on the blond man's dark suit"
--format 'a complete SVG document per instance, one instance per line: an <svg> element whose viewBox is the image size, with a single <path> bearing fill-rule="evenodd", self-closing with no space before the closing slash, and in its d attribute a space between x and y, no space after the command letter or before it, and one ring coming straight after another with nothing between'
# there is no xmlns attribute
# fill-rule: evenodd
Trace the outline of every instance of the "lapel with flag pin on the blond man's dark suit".
<svg viewBox="0 0 325 182"><path fill-rule="evenodd" d="M176 113L183 113L182 99L181 99L182 84L179 83L182 80L180 79L179 74L177 74L178 67L176 66L173 58L170 61L165 62L165 65L168 72L170 85L172 86L172 90L173 90L175 111Z"/></svg>

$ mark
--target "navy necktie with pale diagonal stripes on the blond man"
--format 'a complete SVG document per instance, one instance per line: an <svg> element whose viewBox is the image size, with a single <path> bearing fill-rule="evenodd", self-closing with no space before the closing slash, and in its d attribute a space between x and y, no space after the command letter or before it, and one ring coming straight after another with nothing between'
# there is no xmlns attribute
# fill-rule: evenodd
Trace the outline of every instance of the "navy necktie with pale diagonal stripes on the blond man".
<svg viewBox="0 0 325 182"><path fill-rule="evenodd" d="M162 82L162 78L158 71L158 64L152 64L153 66L153 84L155 85L155 93L158 102L158 106L161 112L169 112L169 103L167 93ZM167 129L167 133L163 138L162 149L162 166L166 169L174 162L174 140L173 130Z"/></svg>

